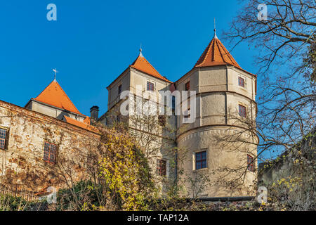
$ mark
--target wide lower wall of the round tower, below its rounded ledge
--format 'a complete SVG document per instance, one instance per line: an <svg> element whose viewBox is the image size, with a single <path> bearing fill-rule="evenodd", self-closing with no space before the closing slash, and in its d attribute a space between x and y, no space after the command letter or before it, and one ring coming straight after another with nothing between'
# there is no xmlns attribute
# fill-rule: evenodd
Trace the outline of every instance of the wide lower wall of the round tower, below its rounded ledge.
<svg viewBox="0 0 316 225"><path fill-rule="evenodd" d="M204 127L178 137L179 182L185 187L185 195L199 198L255 195L256 172L246 168L247 154L256 155L256 146L218 142L233 131ZM195 153L201 151L206 151L206 168L196 169Z"/></svg>

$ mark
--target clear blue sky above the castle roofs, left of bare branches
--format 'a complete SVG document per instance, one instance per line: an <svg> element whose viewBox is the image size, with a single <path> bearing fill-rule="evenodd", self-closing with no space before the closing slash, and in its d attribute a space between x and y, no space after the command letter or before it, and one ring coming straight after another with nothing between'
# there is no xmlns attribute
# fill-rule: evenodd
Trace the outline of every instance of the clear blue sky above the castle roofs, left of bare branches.
<svg viewBox="0 0 316 225"><path fill-rule="evenodd" d="M46 6L57 6L57 21ZM176 81L192 69L213 37L218 38L240 7L238 1L1 1L0 99L25 106L57 80L81 113L107 110L107 89L138 56ZM230 50L225 41L223 44ZM249 72L254 49L232 51Z"/></svg>

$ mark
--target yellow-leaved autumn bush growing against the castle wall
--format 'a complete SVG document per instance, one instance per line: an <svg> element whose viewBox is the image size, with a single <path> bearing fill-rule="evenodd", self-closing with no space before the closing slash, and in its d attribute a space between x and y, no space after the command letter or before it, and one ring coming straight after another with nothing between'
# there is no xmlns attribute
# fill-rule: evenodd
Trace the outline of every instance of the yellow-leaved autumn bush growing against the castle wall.
<svg viewBox="0 0 316 225"><path fill-rule="evenodd" d="M145 155L129 134L101 128L99 174L119 208L140 210L154 192Z"/></svg>

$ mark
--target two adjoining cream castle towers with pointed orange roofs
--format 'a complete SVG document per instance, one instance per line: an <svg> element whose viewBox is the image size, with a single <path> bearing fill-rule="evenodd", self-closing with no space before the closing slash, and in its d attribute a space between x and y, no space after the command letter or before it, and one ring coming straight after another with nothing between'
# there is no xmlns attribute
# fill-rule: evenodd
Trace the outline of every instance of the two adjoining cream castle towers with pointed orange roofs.
<svg viewBox="0 0 316 225"><path fill-rule="evenodd" d="M137 86L141 87L138 94ZM159 136L158 141L152 141L152 148L156 149L154 158L157 158L152 160L152 166L157 167L157 176L169 176L182 182L187 195L254 195L258 137L249 133L247 127L255 126L256 122L256 75L239 66L216 33L192 70L176 82L160 75L140 49L138 58L107 86L107 90L108 111L98 120L104 124L121 121L119 113L113 116L110 112L119 112L124 102L120 98L123 91L131 91L136 98L142 98L140 93L144 91L157 96L162 90L196 91L194 122L184 123L187 117L184 114L173 114L167 119L176 131L174 136L164 130L165 124L160 129L156 124L140 129L141 126L131 122L131 115L125 122L132 131L139 132L137 137L142 133ZM156 101L159 105L159 100ZM187 101L190 105L190 98ZM180 105L183 103L181 99ZM188 106L188 115L191 110ZM160 135L152 130L160 131ZM234 136L238 139L232 141ZM172 146L176 155L171 156L166 149ZM176 169L172 170L169 164L175 159Z"/></svg>

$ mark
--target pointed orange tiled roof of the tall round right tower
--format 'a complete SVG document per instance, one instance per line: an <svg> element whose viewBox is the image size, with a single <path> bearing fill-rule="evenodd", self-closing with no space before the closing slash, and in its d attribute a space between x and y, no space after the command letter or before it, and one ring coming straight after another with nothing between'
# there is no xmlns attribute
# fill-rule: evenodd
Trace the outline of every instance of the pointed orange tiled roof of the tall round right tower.
<svg viewBox="0 0 316 225"><path fill-rule="evenodd" d="M235 65L240 68L235 59L230 55L225 46L217 37L214 37L206 47L202 56L197 60L195 67L206 67L214 65Z"/></svg>

